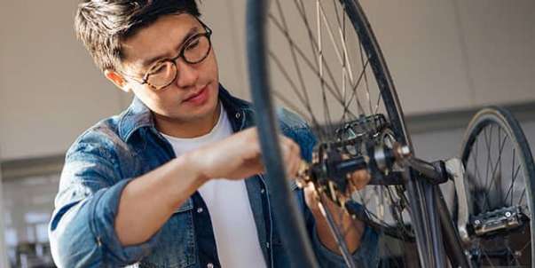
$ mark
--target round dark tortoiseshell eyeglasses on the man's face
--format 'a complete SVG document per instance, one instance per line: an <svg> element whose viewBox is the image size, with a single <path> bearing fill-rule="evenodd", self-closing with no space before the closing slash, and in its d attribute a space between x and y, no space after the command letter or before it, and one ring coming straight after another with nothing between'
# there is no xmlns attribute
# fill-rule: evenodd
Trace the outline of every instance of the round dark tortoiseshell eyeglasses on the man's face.
<svg viewBox="0 0 535 268"><path fill-rule="evenodd" d="M201 22L201 20L199 20ZM208 28L204 23L202 26L206 32L196 34L187 39L182 46L182 49L178 53L177 57L172 59L162 59L154 63L149 67L143 80L134 81L140 84L148 84L156 91L160 91L169 86L169 84L175 82L178 76L177 59L184 59L188 64L197 64L208 57L208 54L212 48L210 36L212 30ZM128 75L127 75L128 76ZM130 78L133 78L130 76Z"/></svg>

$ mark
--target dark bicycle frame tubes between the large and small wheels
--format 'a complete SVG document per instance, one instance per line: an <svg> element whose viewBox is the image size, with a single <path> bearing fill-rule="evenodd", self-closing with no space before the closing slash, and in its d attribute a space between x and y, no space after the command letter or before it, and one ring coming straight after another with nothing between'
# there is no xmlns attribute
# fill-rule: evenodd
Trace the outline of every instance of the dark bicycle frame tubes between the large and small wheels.
<svg viewBox="0 0 535 268"><path fill-rule="evenodd" d="M367 157L372 159L365 164L352 161L357 164L354 169L375 170L378 177L383 177L382 172L390 170L393 162L405 168L402 173L406 192L409 195L410 214L412 224L416 233L416 244L420 252L420 262L423 267L444 267L445 254L455 267L469 267L468 260L464 254L461 244L461 236L464 240L468 238L466 225L468 223L468 197L467 194L460 194L464 210L456 223L458 231L449 209L445 203L443 194L438 185L447 182L450 178L455 183L456 193L465 191L464 169L459 159L453 158L446 162L425 162L412 155L407 146L395 144L391 149L377 146L367 150ZM389 163L389 164L387 164ZM341 165L342 166L342 165ZM348 165L343 165L345 169L350 169ZM382 180L372 180L374 185L398 185L396 177L388 177ZM423 191L420 196L424 200L417 199L416 191ZM427 217L422 217L427 215ZM444 233L444 235L443 235Z"/></svg>

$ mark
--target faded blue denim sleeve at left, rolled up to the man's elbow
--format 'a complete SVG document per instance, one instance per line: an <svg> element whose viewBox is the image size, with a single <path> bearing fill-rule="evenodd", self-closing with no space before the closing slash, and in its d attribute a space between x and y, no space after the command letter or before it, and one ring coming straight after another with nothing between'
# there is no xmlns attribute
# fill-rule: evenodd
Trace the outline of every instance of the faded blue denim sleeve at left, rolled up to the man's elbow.
<svg viewBox="0 0 535 268"><path fill-rule="evenodd" d="M117 267L147 256L150 240L122 247L114 230L122 190L113 155L101 146L78 143L69 149L49 226L51 253L59 267Z"/></svg>

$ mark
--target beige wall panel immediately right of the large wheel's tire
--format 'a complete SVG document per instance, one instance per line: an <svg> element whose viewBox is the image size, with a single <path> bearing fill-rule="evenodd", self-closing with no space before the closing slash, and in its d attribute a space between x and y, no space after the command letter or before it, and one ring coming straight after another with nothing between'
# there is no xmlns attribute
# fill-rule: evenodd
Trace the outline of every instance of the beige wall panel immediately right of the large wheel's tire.
<svg viewBox="0 0 535 268"><path fill-rule="evenodd" d="M361 2L406 114L472 104L451 1Z"/></svg>

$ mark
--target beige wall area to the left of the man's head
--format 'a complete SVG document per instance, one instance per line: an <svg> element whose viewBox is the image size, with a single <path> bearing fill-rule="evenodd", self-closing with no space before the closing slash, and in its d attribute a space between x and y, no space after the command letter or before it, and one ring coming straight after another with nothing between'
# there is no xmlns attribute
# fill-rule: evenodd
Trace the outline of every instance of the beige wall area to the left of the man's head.
<svg viewBox="0 0 535 268"><path fill-rule="evenodd" d="M64 153L122 105L75 40L77 1L8 1L0 9L0 147L4 159Z"/></svg>

